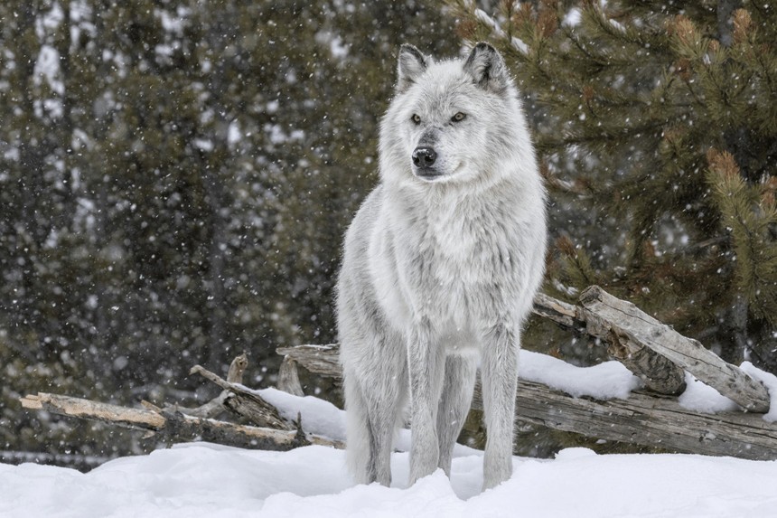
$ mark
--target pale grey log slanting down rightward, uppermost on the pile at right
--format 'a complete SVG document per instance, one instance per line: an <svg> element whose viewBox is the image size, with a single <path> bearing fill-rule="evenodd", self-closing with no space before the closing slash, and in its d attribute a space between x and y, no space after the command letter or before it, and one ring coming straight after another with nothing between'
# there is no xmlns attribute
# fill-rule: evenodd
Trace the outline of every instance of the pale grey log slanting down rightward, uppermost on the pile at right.
<svg viewBox="0 0 777 518"><path fill-rule="evenodd" d="M580 295L580 304L588 333L611 339L615 337L627 351L626 354L632 357L645 348L650 349L745 410L769 411L769 392L761 381L724 362L696 340L661 324L632 303L613 297L601 287L592 286Z"/></svg>

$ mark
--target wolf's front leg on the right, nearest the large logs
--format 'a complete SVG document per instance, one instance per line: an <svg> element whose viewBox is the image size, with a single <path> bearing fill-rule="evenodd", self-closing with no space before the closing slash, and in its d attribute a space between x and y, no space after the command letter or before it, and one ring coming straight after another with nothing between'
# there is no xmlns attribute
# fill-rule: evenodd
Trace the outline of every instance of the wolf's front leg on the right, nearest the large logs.
<svg viewBox="0 0 777 518"><path fill-rule="evenodd" d="M481 377L486 425L483 489L499 485L512 475L519 347L518 331L504 324L494 325L483 343Z"/></svg>

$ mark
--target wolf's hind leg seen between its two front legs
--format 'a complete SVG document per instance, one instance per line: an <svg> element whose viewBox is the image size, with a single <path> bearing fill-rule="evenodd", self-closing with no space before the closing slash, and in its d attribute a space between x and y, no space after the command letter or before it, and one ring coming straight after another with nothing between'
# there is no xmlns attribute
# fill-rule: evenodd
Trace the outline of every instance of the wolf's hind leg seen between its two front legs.
<svg viewBox="0 0 777 518"><path fill-rule="evenodd" d="M437 411L437 438L440 458L437 466L451 476L454 445L462 431L464 420L473 400L477 360L469 356L448 356L445 359L445 384Z"/></svg>

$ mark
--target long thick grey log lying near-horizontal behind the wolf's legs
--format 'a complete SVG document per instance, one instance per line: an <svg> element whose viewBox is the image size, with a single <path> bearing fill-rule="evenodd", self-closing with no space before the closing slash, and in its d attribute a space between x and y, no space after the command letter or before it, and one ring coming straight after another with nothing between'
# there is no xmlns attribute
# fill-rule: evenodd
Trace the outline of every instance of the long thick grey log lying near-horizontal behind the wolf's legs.
<svg viewBox="0 0 777 518"><path fill-rule="evenodd" d="M285 347L283 353L305 368L313 359L311 367L321 375L341 376L336 345ZM473 409L482 410L480 380L475 385ZM551 429L670 451L777 459L777 426L761 416L743 412L699 414L683 409L676 400L647 392L632 392L627 400L600 401L520 380L516 415Z"/></svg>

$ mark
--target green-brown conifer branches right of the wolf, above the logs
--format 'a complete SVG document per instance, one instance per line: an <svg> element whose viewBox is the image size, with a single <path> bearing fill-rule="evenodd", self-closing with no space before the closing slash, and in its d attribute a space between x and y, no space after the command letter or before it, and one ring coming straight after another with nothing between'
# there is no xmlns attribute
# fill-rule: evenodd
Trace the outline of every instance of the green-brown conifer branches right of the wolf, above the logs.
<svg viewBox="0 0 777 518"><path fill-rule="evenodd" d="M560 235L548 288L596 282L777 372L777 5L449 4L534 115Z"/></svg>

